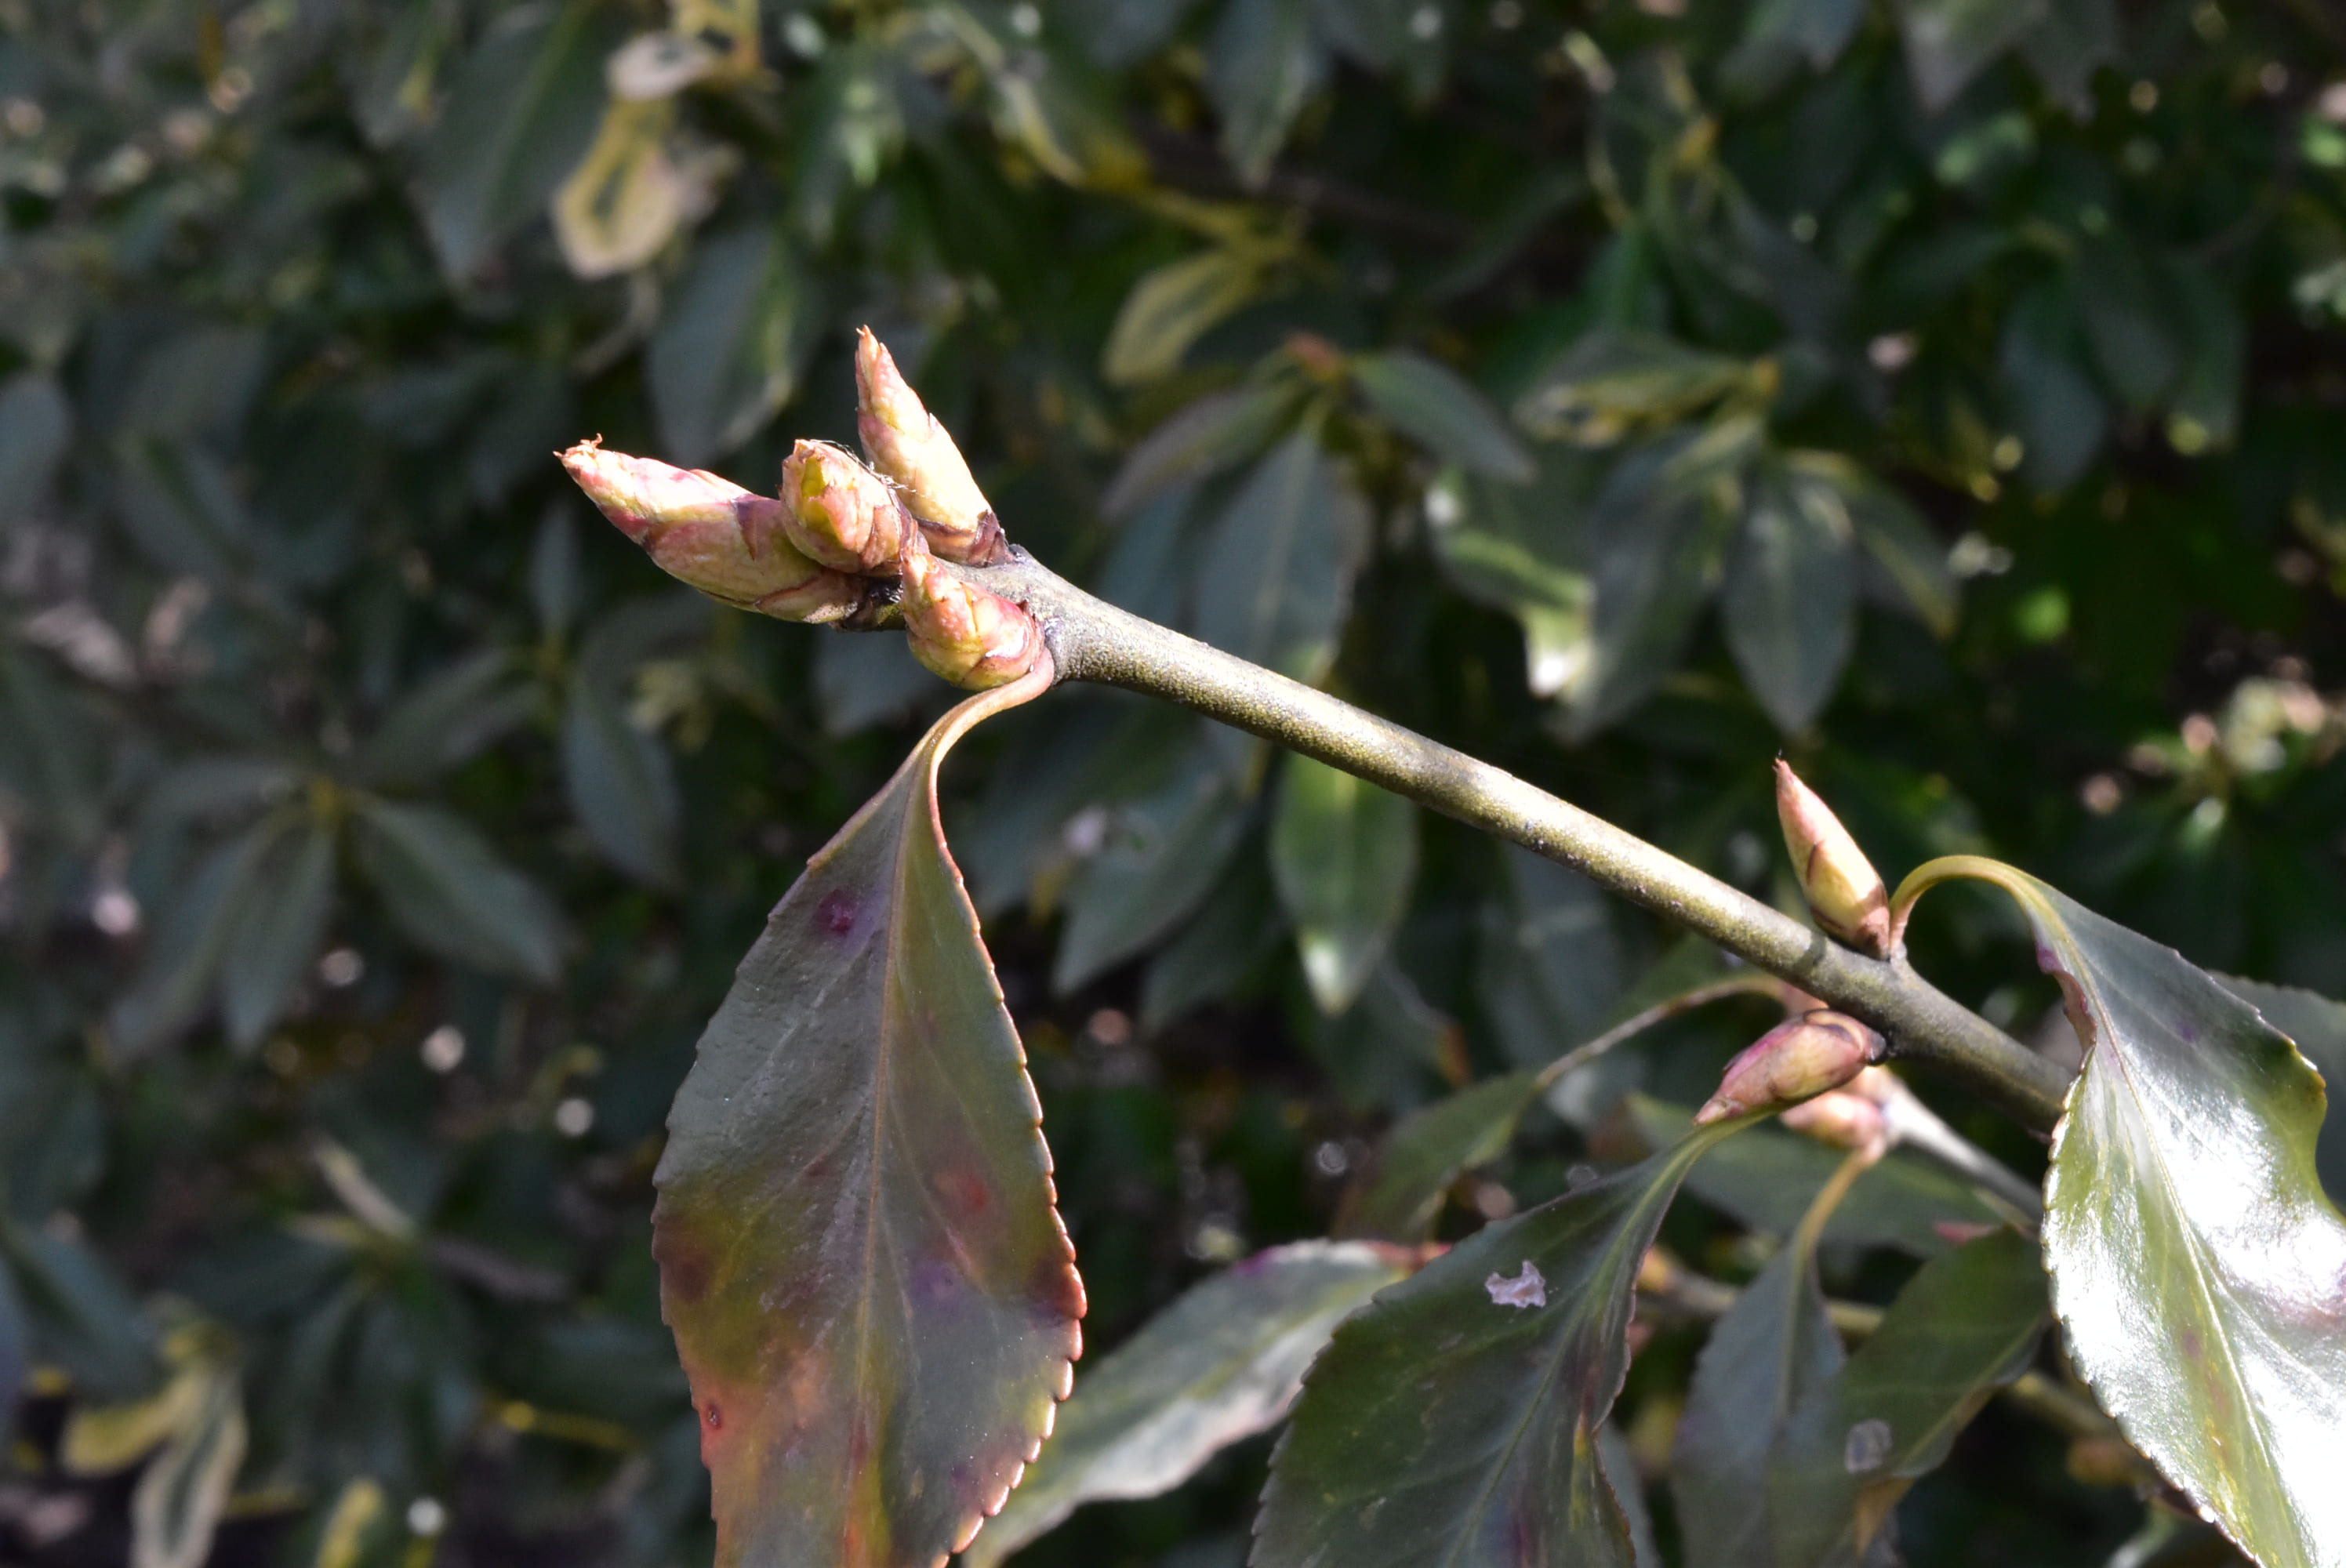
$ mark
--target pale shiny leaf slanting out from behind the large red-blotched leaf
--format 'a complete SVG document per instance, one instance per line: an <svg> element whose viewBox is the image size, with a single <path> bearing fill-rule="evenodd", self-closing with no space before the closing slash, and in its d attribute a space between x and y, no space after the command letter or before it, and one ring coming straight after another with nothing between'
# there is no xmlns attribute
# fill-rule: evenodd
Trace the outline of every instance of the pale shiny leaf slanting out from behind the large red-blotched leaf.
<svg viewBox="0 0 2346 1568"><path fill-rule="evenodd" d="M1154 1498L1286 1415L1335 1326L1415 1258L1365 1242L1274 1246L1192 1286L1098 1366L964 1568L992 1568L1086 1502Z"/></svg>

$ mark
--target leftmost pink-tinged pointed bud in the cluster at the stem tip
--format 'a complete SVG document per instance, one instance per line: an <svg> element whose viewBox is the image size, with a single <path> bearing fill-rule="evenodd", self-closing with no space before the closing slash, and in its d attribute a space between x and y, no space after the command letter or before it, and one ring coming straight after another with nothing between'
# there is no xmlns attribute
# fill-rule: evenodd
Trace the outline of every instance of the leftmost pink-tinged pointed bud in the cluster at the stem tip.
<svg viewBox="0 0 2346 1568"><path fill-rule="evenodd" d="M793 547L772 495L657 458L608 453L601 441L579 441L561 458L619 533L711 599L781 620L833 622L873 596L873 584L826 570Z"/></svg>

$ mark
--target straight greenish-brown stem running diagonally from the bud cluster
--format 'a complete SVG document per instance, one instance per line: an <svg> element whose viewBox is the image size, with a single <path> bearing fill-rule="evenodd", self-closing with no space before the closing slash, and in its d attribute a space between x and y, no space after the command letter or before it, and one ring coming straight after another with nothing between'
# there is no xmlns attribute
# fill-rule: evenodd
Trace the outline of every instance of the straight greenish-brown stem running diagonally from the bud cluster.
<svg viewBox="0 0 2346 1568"><path fill-rule="evenodd" d="M1100 603L1023 552L999 566L955 570L1025 606L1042 622L1065 681L1180 702L1546 854L1872 1023L1898 1056L1950 1070L2029 1127L2050 1129L2060 1117L2067 1089L2060 1068L1957 1005L1903 958L1874 960L1837 946L1567 800L1328 692Z"/></svg>

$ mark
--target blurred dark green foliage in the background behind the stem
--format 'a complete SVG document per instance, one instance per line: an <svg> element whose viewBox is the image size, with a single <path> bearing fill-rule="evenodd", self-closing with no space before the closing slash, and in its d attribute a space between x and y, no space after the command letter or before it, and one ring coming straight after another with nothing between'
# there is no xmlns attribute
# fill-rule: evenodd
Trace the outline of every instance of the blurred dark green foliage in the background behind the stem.
<svg viewBox="0 0 2346 1568"><path fill-rule="evenodd" d="M662 1115L765 911L948 692L896 638L704 608L549 453L601 432L765 488L791 437L852 437L861 322L1049 563L1762 897L1795 906L1788 749L1893 880L1985 850L2201 965L2346 991L2323 5L769 0L767 73L676 99L706 200L582 282L547 200L605 54L662 26L0 0L0 1368L45 1368L0 1556L120 1561L127 1481L61 1479L59 1432L202 1314L251 1418L213 1561L312 1561L361 1479L366 1561L706 1559ZM1213 397L1187 474L1119 479ZM1696 481L1656 477L1701 437ZM1598 674L1534 695L1523 620ZM1419 822L1415 859L1363 852L1368 941L1377 878L1408 913L1328 1019L1279 777L1096 692L950 768L1093 1350L1325 1232L1396 1113L1562 1052L1668 946ZM1935 899L1917 953L2041 1030L2001 906ZM1696 1099L1757 1016L1612 1089ZM1586 1136L1544 1120L1494 1176L1558 1192ZM1748 1275L1706 1225L1666 1239ZM1872 1268L1828 1284L1879 1296ZM1640 1359L1633 1437L1696 1347ZM1912 1561L2130 1530L2055 1439L1985 1422L1905 1505ZM1236 1563L1260 1460L1021 1561ZM56 1495L91 1523L38 1547ZM448 1526L411 1545L420 1495Z"/></svg>

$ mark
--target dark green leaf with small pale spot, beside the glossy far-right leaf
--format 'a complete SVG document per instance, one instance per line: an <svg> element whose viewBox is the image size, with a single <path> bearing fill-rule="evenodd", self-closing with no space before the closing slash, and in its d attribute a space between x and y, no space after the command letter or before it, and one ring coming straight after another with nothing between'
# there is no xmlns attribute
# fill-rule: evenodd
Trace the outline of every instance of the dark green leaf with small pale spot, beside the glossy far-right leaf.
<svg viewBox="0 0 2346 1568"><path fill-rule="evenodd" d="M1776 1568L1865 1552L1987 1397L2027 1371L2043 1326L2046 1275L2027 1237L1996 1230L1924 1263L1785 1422L1767 1495Z"/></svg>

